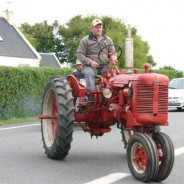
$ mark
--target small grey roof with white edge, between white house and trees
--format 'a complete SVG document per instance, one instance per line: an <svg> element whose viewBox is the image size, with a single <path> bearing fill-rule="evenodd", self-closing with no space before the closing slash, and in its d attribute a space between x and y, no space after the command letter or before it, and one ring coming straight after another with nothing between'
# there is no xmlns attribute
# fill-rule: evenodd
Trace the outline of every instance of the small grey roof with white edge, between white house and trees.
<svg viewBox="0 0 184 184"><path fill-rule="evenodd" d="M55 53L39 53L41 58L40 66L61 68L61 64Z"/></svg>

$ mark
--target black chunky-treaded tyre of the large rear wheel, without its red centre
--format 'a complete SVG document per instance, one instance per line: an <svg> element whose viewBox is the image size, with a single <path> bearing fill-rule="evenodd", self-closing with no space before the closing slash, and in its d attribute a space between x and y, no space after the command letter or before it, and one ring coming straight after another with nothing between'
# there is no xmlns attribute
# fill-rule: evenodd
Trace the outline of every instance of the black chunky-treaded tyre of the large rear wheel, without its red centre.
<svg viewBox="0 0 184 184"><path fill-rule="evenodd" d="M63 159L68 155L73 140L74 106L70 86L66 79L51 77L46 84L43 95L42 111L47 91L54 89L58 105L58 126L56 137L51 147L46 145L42 129L45 153L52 159ZM42 112L43 113L43 112Z"/></svg>

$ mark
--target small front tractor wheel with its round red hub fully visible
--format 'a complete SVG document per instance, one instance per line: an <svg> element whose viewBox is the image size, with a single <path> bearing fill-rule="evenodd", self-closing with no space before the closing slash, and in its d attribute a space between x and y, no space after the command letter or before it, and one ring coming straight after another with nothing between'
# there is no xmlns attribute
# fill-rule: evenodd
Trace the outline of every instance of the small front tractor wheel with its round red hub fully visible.
<svg viewBox="0 0 184 184"><path fill-rule="evenodd" d="M158 173L158 155L154 141L145 133L134 133L127 147L127 162L132 175L149 182Z"/></svg>

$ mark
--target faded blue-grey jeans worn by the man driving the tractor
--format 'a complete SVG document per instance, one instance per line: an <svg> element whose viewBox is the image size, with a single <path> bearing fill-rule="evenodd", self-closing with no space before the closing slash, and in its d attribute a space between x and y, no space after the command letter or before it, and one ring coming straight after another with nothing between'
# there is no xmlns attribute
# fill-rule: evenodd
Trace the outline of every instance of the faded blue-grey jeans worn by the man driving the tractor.
<svg viewBox="0 0 184 184"><path fill-rule="evenodd" d="M87 93L95 90L95 76L96 75L103 75L105 69L106 69L106 66L103 66L103 67L96 69L96 68L92 68L88 65L83 65L83 73L84 73L84 76L86 78Z"/></svg>

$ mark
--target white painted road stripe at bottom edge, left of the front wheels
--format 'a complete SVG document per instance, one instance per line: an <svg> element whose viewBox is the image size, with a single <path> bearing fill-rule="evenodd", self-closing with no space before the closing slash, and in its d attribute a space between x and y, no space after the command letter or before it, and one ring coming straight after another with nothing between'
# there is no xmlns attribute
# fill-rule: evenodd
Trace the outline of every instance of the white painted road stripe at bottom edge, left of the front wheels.
<svg viewBox="0 0 184 184"><path fill-rule="evenodd" d="M96 180L90 181L90 182L85 183L85 184L110 184L110 183L113 183L115 181L119 181L127 176L130 176L130 174L113 173L113 174L109 174L107 176L104 176L102 178L98 178Z"/></svg>

